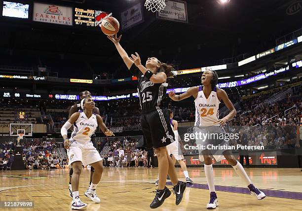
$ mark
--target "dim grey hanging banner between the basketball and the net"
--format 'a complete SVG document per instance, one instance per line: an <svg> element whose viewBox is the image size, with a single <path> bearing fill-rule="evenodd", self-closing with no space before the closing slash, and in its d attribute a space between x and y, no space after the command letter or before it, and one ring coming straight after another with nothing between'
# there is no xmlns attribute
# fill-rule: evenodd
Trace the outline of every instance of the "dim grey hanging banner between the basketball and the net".
<svg viewBox="0 0 302 211"><path fill-rule="evenodd" d="M120 13L122 30L129 29L144 21L142 4L138 3Z"/></svg>

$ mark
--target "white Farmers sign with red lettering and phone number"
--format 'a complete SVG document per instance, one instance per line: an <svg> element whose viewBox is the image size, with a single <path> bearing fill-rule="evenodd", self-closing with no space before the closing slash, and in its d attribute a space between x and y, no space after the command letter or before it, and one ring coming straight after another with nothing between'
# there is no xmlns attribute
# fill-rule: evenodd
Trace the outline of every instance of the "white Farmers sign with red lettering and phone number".
<svg viewBox="0 0 302 211"><path fill-rule="evenodd" d="M33 21L72 26L73 8L35 2Z"/></svg>

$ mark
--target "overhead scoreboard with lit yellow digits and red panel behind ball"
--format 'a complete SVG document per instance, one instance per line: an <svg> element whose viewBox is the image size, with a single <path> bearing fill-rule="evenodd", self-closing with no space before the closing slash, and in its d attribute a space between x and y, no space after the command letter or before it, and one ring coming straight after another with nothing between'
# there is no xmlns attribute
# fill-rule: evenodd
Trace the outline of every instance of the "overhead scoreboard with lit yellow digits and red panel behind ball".
<svg viewBox="0 0 302 211"><path fill-rule="evenodd" d="M76 26L98 27L104 18L112 16L112 13L94 10L75 8Z"/></svg>

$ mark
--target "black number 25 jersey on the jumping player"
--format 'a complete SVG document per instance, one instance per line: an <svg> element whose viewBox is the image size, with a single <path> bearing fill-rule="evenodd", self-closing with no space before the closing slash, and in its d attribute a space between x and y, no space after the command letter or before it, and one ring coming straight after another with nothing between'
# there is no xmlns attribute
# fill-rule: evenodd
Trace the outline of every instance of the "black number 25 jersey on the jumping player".
<svg viewBox="0 0 302 211"><path fill-rule="evenodd" d="M146 113L162 107L162 101L166 98L167 83L153 83L133 64L130 72L138 78L138 96L142 112Z"/></svg>

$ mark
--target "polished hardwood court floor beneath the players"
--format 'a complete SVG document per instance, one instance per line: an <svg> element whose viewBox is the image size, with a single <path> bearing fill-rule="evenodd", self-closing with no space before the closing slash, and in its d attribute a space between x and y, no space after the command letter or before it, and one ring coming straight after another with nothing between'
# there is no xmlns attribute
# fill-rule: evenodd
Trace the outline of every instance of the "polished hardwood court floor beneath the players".
<svg viewBox="0 0 302 211"><path fill-rule="evenodd" d="M189 168L194 181L187 185L182 203L175 205L173 194L156 211L206 211L209 191L203 168ZM257 200L247 193L244 183L232 168L214 168L219 207L216 211L301 211L302 172L300 169L246 169L255 186L267 197ZM184 180L183 173L177 168ZM105 168L97 194L101 204L94 204L84 196L90 171L83 169L79 194L88 203L90 211L151 211L149 205L154 197L154 180L157 168ZM33 200L34 209L25 211L68 211L72 199L68 191L69 170L22 170L0 171L0 200ZM169 188L171 185L167 185ZM1 209L18 211L22 209Z"/></svg>

